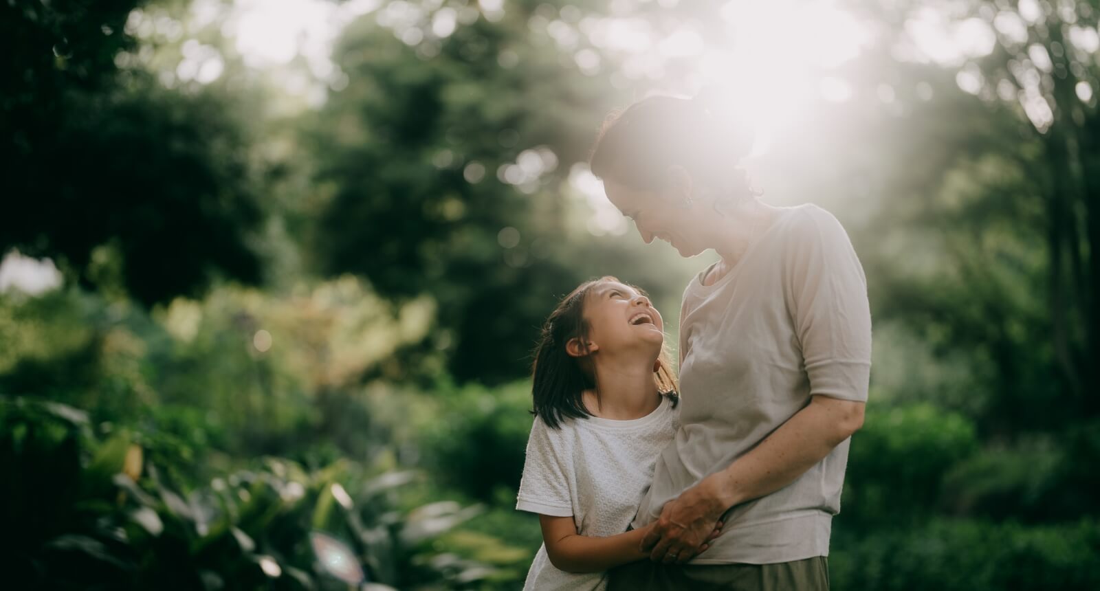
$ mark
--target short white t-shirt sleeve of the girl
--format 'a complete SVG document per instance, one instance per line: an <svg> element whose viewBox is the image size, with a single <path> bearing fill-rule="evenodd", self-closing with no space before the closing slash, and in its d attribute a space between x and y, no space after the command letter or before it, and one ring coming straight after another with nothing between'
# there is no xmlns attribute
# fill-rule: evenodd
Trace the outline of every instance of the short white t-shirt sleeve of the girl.
<svg viewBox="0 0 1100 591"><path fill-rule="evenodd" d="M527 459L519 482L516 509L542 515L568 517L573 514L568 473L572 473L571 454L565 450L560 432L551 432L535 419L527 439Z"/></svg>

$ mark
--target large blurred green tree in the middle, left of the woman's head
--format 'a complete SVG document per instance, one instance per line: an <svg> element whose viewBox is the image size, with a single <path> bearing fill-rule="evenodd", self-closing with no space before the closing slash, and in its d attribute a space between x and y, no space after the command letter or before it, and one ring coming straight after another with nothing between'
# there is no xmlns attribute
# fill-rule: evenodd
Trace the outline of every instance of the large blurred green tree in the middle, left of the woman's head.
<svg viewBox="0 0 1100 591"><path fill-rule="evenodd" d="M440 331L427 346L449 352L460 380L522 376L538 325L584 278L553 256L565 235L558 192L613 94L562 67L546 34L528 38L529 15L474 11L435 32L430 13L360 19L336 52L346 88L312 132L328 193L310 241L318 267L361 274L387 297L435 298Z"/></svg>

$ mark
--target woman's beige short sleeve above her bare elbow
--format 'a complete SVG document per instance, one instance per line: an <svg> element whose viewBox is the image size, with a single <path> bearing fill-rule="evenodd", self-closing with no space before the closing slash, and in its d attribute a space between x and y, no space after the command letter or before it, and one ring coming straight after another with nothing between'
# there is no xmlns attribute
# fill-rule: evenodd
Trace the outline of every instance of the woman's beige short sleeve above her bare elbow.
<svg viewBox="0 0 1100 591"><path fill-rule="evenodd" d="M800 220L784 283L810 393L867 401L871 312L867 278L848 234L824 210Z"/></svg>

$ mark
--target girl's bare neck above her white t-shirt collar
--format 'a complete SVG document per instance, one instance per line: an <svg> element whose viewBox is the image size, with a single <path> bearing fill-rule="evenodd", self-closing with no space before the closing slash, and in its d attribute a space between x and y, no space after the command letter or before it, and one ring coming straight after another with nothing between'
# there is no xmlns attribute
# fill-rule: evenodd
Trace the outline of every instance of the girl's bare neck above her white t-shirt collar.
<svg viewBox="0 0 1100 591"><path fill-rule="evenodd" d="M653 381L653 360L600 360L596 363L600 395L584 392L584 404L592 414L615 421L641 419L661 403Z"/></svg>

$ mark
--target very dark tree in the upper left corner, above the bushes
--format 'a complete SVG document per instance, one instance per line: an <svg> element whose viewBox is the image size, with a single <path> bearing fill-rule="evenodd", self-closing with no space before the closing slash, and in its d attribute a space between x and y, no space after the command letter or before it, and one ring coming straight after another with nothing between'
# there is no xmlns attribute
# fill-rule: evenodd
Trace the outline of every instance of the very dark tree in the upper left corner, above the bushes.
<svg viewBox="0 0 1100 591"><path fill-rule="evenodd" d="M151 304L216 276L255 281L262 220L250 140L213 93L168 91L116 58L136 1L8 3L0 102L11 164L0 250L50 256L85 285L114 276Z"/></svg>

